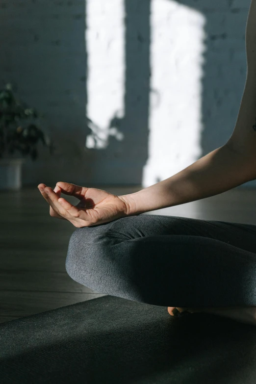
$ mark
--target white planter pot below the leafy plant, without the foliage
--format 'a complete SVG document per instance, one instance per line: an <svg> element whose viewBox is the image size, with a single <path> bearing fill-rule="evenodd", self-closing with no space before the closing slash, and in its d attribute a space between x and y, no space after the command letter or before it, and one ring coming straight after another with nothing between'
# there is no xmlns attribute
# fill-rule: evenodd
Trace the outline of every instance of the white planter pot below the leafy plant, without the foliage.
<svg viewBox="0 0 256 384"><path fill-rule="evenodd" d="M0 190L22 187L22 164L24 158L1 158L0 159Z"/></svg>

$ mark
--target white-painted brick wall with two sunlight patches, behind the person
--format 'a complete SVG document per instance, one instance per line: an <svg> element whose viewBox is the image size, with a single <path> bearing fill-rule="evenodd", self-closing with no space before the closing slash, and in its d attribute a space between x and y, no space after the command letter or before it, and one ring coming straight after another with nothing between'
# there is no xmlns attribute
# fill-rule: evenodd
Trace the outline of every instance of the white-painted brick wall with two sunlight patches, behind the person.
<svg viewBox="0 0 256 384"><path fill-rule="evenodd" d="M58 146L52 158L42 149L37 163L27 161L24 184L146 187L230 137L246 79L250 0L0 7L2 84L14 83L46 113Z"/></svg>

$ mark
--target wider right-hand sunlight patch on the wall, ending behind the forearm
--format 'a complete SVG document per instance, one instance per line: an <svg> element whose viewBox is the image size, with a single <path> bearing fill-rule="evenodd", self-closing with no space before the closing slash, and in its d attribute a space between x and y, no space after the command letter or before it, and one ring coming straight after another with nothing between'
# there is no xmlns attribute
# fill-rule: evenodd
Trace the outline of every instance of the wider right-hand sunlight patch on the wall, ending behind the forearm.
<svg viewBox="0 0 256 384"><path fill-rule="evenodd" d="M168 179L202 150L205 17L170 0L152 0L149 157L142 186Z"/></svg>

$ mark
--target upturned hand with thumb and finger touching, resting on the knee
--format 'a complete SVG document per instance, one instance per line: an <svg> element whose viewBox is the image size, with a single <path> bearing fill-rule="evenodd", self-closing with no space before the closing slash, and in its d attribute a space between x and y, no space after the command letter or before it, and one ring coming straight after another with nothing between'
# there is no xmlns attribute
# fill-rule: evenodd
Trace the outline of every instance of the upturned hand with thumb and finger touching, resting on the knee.
<svg viewBox="0 0 256 384"><path fill-rule="evenodd" d="M97 188L86 188L68 182L59 181L54 190L45 184L38 189L50 204L50 215L58 219L69 220L75 227L90 227L108 223L126 217L129 211L128 201ZM60 194L75 196L79 203L74 206Z"/></svg>

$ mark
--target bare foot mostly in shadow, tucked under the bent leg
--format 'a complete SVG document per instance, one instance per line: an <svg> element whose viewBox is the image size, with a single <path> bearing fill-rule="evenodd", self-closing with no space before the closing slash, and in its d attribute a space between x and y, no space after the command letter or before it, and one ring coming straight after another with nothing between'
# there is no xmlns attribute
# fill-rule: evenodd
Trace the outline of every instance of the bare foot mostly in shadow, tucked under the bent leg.
<svg viewBox="0 0 256 384"><path fill-rule="evenodd" d="M174 316L173 309L177 308L179 312L185 310L190 313L213 313L215 315L228 317L232 320L239 321L240 323L256 325L256 307L218 307L218 308L181 308L181 307L168 307L168 313Z"/></svg>

